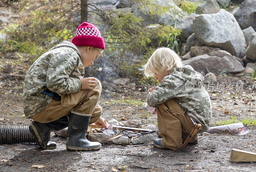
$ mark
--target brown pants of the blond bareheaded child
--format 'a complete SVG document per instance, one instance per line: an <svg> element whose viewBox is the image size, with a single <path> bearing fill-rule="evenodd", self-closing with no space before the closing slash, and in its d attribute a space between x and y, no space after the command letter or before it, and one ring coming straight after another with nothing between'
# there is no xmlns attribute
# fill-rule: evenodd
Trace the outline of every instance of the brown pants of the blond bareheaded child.
<svg viewBox="0 0 256 172"><path fill-rule="evenodd" d="M179 149L195 127L186 110L174 99L170 99L157 107L157 123L161 144L168 149ZM198 139L197 134L190 142Z"/></svg>

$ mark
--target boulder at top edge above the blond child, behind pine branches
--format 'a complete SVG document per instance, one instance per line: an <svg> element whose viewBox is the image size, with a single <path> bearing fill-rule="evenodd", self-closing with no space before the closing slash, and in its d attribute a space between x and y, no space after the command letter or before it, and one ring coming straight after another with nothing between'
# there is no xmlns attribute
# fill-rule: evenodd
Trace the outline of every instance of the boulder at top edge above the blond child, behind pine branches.
<svg viewBox="0 0 256 172"><path fill-rule="evenodd" d="M166 4L166 1L164 0L156 0L155 2L158 5ZM132 12L136 16L140 16L142 19L144 19L144 21L141 21L142 25L148 26L150 24L156 24L156 23L160 24L160 23L163 23L164 21L172 20L172 17L175 18L175 13L172 12L173 9L175 9L175 11L180 11L180 13L183 13L183 11L173 1L169 1L169 2L170 2L169 5L172 6L172 9L170 9L171 12L167 12L166 14L163 14L161 16L159 15L155 16L154 14L151 14L149 9L144 9L142 11L137 4L132 5Z"/></svg>

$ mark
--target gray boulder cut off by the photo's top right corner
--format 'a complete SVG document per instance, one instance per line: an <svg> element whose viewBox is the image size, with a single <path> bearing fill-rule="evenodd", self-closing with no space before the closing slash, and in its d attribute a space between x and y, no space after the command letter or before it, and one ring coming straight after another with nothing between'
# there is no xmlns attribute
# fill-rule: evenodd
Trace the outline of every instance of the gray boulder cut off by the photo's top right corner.
<svg viewBox="0 0 256 172"><path fill-rule="evenodd" d="M256 0L245 0L234 16L242 29L252 26L256 30Z"/></svg>

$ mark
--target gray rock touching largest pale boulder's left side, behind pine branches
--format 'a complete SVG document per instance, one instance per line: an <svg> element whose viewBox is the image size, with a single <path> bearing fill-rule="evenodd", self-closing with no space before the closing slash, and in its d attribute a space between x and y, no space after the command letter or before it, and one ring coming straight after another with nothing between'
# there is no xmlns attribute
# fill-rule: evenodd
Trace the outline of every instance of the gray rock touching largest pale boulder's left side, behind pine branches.
<svg viewBox="0 0 256 172"><path fill-rule="evenodd" d="M170 17L163 17L159 23L164 24L164 25L171 25L174 27L176 23L176 28L181 29L181 34L180 37L182 39L187 39L191 34L194 33L193 31L193 20L195 17L199 16L198 14L190 14L190 15L185 15L182 18L174 18L172 20Z"/></svg>

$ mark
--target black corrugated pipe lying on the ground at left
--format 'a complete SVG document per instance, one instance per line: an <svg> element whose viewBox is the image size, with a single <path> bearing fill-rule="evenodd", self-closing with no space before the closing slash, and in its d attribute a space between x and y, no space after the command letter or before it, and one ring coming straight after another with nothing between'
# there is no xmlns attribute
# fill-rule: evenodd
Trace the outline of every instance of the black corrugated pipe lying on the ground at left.
<svg viewBox="0 0 256 172"><path fill-rule="evenodd" d="M0 127L0 144L36 143L28 126Z"/></svg>

